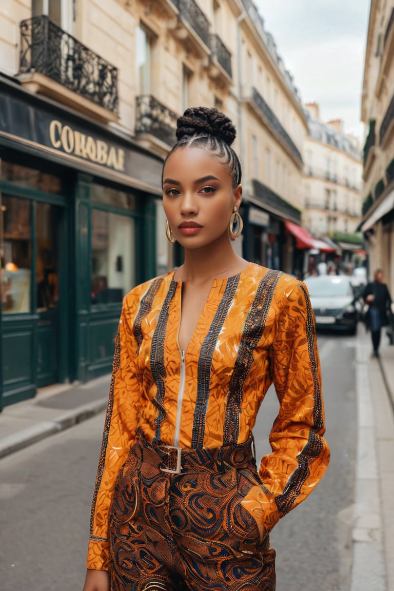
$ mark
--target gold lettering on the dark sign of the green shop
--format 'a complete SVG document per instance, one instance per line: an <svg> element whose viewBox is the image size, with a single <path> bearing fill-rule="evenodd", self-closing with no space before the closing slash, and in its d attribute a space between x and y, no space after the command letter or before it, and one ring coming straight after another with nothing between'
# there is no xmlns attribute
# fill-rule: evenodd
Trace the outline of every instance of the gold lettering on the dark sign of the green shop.
<svg viewBox="0 0 394 591"><path fill-rule="evenodd" d="M102 139L82 134L69 125L62 125L53 119L49 126L51 144L56 150L63 148L66 154L74 154L79 158L102 164L108 168L125 170L125 151L107 144Z"/></svg>

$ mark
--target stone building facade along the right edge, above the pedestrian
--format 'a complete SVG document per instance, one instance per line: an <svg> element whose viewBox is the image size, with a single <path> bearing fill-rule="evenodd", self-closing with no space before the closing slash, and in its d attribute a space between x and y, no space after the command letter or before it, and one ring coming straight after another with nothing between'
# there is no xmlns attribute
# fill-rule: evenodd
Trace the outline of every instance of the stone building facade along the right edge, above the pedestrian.
<svg viewBox="0 0 394 591"><path fill-rule="evenodd" d="M372 0L364 65L363 218L370 277L382 268L394 290L394 7Z"/></svg>

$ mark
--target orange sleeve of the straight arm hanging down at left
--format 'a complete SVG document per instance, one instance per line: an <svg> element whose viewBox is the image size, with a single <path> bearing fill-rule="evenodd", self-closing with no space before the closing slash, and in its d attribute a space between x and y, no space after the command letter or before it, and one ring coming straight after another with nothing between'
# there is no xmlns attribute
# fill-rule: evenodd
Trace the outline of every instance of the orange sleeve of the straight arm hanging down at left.
<svg viewBox="0 0 394 591"><path fill-rule="evenodd" d="M130 316L124 300L115 339L112 381L90 516L87 568L94 570L108 570L108 515L113 489L135 437L141 407L136 342L128 320Z"/></svg>

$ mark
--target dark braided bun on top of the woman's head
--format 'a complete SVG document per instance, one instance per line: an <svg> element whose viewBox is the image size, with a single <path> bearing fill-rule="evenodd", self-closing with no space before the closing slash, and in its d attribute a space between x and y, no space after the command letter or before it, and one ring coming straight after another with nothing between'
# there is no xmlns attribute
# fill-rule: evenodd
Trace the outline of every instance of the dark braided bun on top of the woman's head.
<svg viewBox="0 0 394 591"><path fill-rule="evenodd" d="M177 139L185 136L211 135L231 145L236 137L231 119L213 107L191 107L178 118Z"/></svg>

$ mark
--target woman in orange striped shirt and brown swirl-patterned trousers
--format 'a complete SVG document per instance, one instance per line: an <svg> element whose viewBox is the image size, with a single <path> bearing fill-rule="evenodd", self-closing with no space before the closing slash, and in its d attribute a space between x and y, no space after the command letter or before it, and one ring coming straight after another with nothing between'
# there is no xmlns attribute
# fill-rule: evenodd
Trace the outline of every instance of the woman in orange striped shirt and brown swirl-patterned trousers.
<svg viewBox="0 0 394 591"><path fill-rule="evenodd" d="M302 283L232 248L232 122L187 109L177 138L163 205L184 264L123 301L84 591L271 591L269 531L329 459L312 309ZM258 470L272 381L281 408Z"/></svg>

